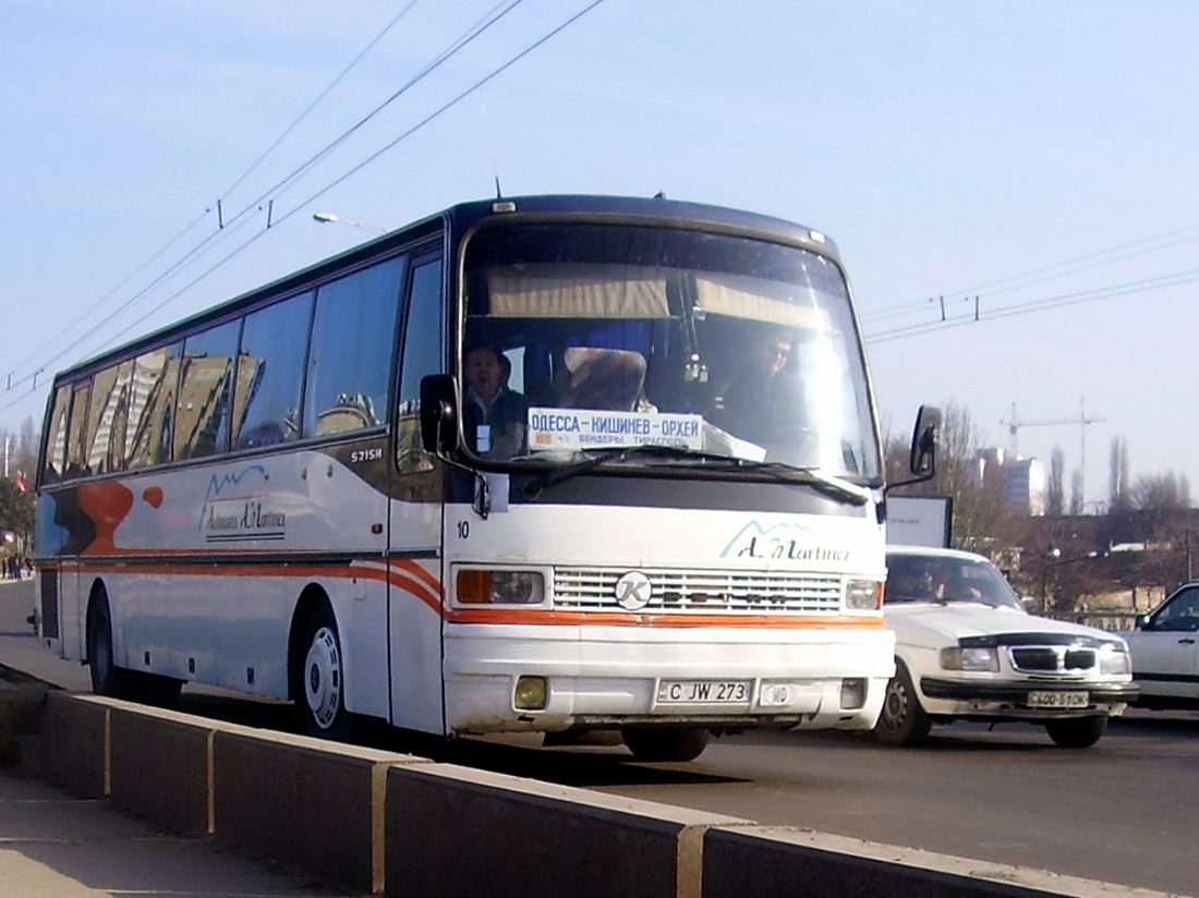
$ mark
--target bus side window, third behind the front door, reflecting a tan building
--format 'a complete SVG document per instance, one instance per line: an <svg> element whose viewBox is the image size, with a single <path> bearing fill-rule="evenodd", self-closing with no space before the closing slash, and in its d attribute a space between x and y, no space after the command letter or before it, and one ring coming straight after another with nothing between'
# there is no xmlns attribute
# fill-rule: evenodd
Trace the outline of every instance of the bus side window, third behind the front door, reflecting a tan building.
<svg viewBox="0 0 1199 898"><path fill-rule="evenodd" d="M183 343L175 414L175 458L200 458L229 446L229 405L241 321L228 321Z"/></svg>

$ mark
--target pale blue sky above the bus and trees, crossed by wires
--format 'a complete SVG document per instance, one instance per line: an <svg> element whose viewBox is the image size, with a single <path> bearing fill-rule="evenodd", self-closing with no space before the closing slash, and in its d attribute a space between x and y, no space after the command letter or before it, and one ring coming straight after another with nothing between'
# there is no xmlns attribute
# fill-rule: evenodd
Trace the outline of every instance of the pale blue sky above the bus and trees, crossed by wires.
<svg viewBox="0 0 1199 898"><path fill-rule="evenodd" d="M409 0L2 0L0 426L53 370L369 236L313 212L397 227L498 173L818 228L891 429L953 402L1006 446L1013 404L1085 398L1089 499L1114 436L1199 496L1199 5L604 0L416 128L588 5L524 0L287 180L508 4L417 0L347 72ZM1019 450L1071 470L1083 429Z"/></svg>

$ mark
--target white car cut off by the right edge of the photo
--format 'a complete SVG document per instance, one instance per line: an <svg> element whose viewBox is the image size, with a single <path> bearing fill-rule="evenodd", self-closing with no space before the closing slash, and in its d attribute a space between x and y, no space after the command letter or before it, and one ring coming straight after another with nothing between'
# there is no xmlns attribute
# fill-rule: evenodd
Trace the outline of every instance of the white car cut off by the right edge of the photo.
<svg viewBox="0 0 1199 898"><path fill-rule="evenodd" d="M1170 593L1125 634L1143 707L1199 709L1199 583Z"/></svg>

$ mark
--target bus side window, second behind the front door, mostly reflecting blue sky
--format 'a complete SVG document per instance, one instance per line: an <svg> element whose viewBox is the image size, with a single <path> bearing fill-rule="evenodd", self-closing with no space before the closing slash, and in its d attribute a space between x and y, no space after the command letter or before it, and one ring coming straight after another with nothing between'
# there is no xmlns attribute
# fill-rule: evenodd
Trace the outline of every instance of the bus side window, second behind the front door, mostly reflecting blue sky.
<svg viewBox="0 0 1199 898"><path fill-rule="evenodd" d="M233 403L234 448L273 446L300 436L311 319L311 293L246 317Z"/></svg>

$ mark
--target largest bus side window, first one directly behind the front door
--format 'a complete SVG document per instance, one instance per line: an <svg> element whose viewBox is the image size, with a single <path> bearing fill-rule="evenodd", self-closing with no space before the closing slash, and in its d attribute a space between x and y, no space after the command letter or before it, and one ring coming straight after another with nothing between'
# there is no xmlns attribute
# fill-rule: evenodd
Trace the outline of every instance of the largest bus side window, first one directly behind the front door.
<svg viewBox="0 0 1199 898"><path fill-rule="evenodd" d="M305 436L386 423L396 309L408 258L388 259L317 291Z"/></svg>

